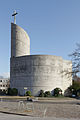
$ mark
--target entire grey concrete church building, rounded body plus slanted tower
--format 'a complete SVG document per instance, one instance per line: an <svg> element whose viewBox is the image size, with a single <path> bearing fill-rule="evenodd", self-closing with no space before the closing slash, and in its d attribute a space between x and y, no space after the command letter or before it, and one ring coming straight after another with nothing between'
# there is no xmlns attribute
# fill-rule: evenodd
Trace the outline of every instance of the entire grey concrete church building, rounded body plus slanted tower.
<svg viewBox="0 0 80 120"><path fill-rule="evenodd" d="M56 87L64 94L72 84L72 76L64 75L63 71L71 70L72 62L62 57L30 55L28 34L11 24L10 86L17 88L19 95L25 94L25 88L37 96L40 90L53 91Z"/></svg>

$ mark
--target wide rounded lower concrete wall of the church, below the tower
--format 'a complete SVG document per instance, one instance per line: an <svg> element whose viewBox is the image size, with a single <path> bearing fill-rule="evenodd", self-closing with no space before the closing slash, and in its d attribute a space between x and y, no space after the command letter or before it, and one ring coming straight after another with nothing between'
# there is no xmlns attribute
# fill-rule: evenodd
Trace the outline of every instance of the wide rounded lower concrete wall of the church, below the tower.
<svg viewBox="0 0 80 120"><path fill-rule="evenodd" d="M21 95L25 92L24 88L32 95L38 95L41 89L52 91L56 87L64 92L72 84L72 78L63 77L61 71L71 68L70 64L70 61L52 55L11 58L11 87L16 87Z"/></svg>

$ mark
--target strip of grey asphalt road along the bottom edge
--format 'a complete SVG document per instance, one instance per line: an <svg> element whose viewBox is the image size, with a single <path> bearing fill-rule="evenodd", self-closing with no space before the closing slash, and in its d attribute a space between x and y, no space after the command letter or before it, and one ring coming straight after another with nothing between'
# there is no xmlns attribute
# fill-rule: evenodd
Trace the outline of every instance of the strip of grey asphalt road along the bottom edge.
<svg viewBox="0 0 80 120"><path fill-rule="evenodd" d="M53 117L39 118L39 117L19 116L19 115L0 113L0 120L75 120L75 119L53 118ZM76 120L80 120L80 119L76 119Z"/></svg>

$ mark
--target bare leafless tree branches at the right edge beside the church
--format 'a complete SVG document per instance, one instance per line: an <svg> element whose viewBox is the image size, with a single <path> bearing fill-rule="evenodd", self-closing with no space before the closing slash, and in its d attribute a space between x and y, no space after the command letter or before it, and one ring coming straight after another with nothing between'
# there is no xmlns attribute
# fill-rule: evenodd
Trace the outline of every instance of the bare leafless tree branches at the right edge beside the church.
<svg viewBox="0 0 80 120"><path fill-rule="evenodd" d="M72 68L70 67L70 62L68 63L68 68L65 68L61 73L66 76L66 77L73 77L78 78L80 76L80 44L76 44L77 48L72 52L72 54L69 55L71 57L71 65Z"/></svg>

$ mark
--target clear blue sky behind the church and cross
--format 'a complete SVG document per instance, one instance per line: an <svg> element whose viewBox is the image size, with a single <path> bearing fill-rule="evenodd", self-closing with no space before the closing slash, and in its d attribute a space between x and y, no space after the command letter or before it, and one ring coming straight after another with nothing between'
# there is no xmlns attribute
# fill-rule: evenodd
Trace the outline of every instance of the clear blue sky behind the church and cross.
<svg viewBox="0 0 80 120"><path fill-rule="evenodd" d="M0 75L10 71L12 13L30 37L31 54L70 59L80 43L80 0L0 0Z"/></svg>

